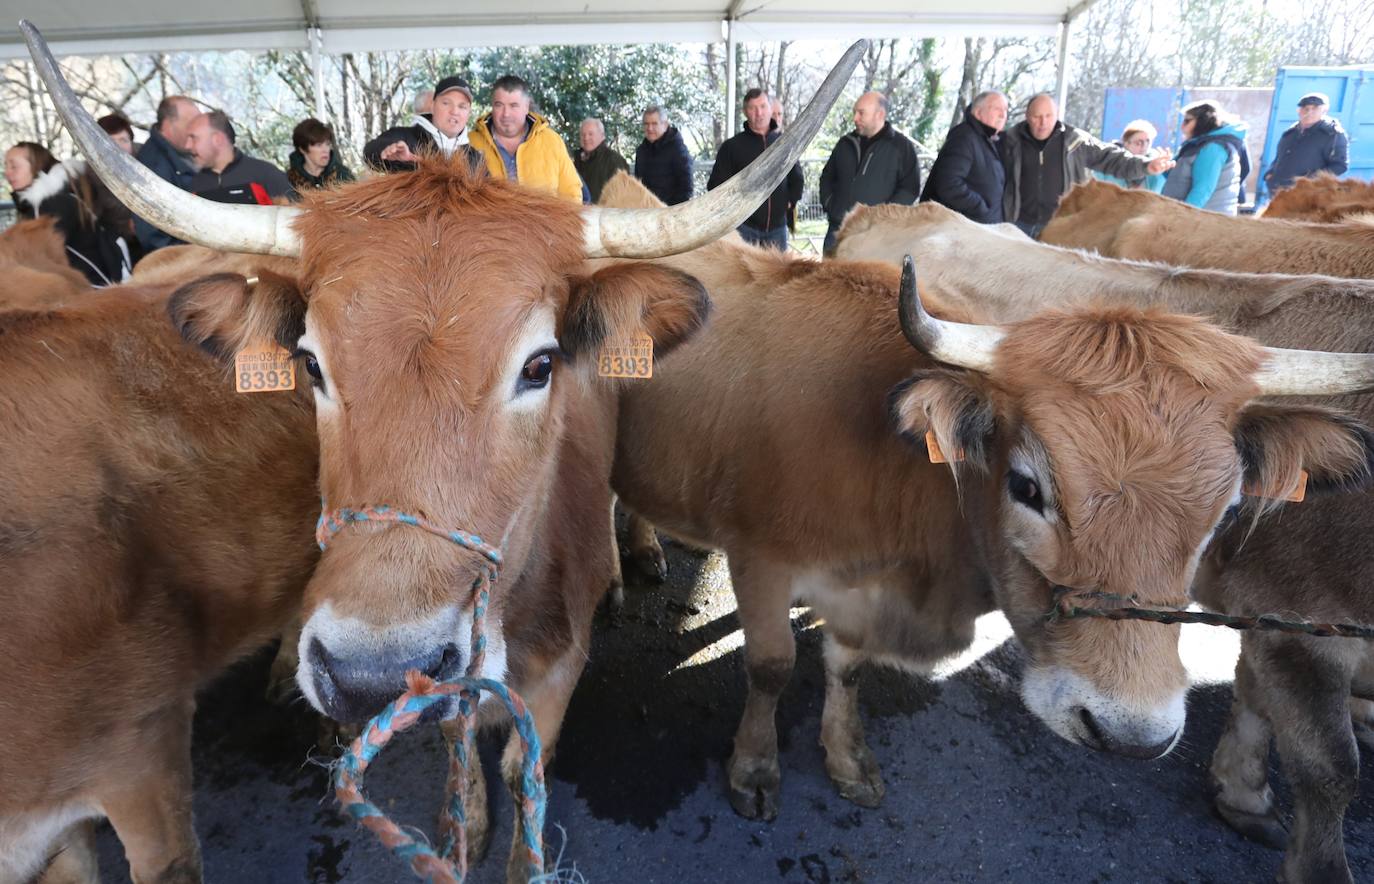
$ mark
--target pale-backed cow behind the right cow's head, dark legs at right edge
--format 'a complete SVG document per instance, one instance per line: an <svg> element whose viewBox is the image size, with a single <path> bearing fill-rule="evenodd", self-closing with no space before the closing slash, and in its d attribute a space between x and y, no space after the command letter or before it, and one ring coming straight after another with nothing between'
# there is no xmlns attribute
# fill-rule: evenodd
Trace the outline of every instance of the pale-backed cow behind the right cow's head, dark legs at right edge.
<svg viewBox="0 0 1374 884"><path fill-rule="evenodd" d="M837 253L914 254L932 268L926 278L941 294L967 293L1003 320L1048 304L1116 301L1202 313L1271 345L1374 346L1374 280L1114 261L1039 245L1020 232L1009 236L932 203L856 209L840 231ZM1374 423L1367 396L1323 401ZM1370 498L1308 499L1253 529L1239 521L1204 558L1195 595L1235 613L1374 623ZM1238 830L1283 843L1268 788L1272 733L1297 804L1285 879L1349 879L1341 819L1359 781L1351 719L1355 733L1374 745L1374 642L1248 632L1242 649L1231 723L1212 762L1217 808Z"/></svg>

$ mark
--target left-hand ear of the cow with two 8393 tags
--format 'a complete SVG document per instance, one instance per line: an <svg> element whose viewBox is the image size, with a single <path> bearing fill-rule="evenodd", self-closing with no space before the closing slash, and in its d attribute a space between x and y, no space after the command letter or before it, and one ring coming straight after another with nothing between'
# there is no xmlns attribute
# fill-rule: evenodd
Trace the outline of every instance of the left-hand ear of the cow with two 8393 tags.
<svg viewBox="0 0 1374 884"><path fill-rule="evenodd" d="M181 337L223 360L275 341L291 349L305 334L305 296L290 276L261 271L253 280L214 274L188 282L168 301Z"/></svg>

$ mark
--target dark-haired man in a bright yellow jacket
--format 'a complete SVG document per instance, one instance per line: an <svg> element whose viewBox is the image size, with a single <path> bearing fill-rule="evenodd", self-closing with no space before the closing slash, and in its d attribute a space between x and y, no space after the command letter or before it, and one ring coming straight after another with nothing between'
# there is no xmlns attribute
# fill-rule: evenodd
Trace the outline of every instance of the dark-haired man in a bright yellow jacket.
<svg viewBox="0 0 1374 884"><path fill-rule="evenodd" d="M583 201L583 180L567 146L547 120L530 113L529 84L519 77L507 74L492 84L492 110L477 120L469 140L493 177Z"/></svg>

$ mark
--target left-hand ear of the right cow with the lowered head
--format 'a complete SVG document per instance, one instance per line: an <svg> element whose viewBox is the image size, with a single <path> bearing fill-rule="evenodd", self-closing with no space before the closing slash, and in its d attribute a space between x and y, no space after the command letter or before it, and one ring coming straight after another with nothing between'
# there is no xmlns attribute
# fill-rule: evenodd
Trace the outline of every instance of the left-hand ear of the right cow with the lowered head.
<svg viewBox="0 0 1374 884"><path fill-rule="evenodd" d="M934 434L951 469L960 462L980 473L991 469L998 412L982 375L945 368L918 371L892 390L890 403L897 430L922 448L925 434Z"/></svg>

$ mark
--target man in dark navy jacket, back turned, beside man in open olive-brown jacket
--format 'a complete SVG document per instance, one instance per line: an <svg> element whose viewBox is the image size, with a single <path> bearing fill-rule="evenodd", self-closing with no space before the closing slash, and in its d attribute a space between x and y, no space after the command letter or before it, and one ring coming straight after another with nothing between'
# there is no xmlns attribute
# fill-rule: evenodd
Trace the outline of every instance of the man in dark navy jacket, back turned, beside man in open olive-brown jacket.
<svg viewBox="0 0 1374 884"><path fill-rule="evenodd" d="M1007 125L1007 96L1002 92L974 96L963 111L963 122L945 136L926 177L922 199L938 202L981 224L1002 223L1007 173L998 142Z"/></svg>

